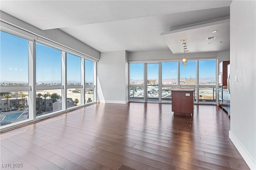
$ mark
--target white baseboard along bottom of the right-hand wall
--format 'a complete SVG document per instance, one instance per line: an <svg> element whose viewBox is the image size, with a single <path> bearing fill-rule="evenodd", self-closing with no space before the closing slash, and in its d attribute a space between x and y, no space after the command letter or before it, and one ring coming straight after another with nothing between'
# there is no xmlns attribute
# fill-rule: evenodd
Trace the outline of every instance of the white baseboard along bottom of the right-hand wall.
<svg viewBox="0 0 256 170"><path fill-rule="evenodd" d="M256 170L256 162L252 159L250 154L244 149L244 147L241 145L241 143L238 141L236 136L232 133L232 131L229 131L229 138L234 143L236 149L241 154L241 156L244 158L246 164L249 166L251 170Z"/></svg>

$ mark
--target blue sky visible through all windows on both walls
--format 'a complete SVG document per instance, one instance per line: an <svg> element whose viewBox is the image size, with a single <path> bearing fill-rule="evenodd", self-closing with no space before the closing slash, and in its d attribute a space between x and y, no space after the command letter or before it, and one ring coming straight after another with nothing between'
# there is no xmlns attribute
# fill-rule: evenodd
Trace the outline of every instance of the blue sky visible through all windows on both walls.
<svg viewBox="0 0 256 170"><path fill-rule="evenodd" d="M28 41L1 31L1 81L28 82ZM80 81L80 57L67 54L67 81ZM148 64L148 79L158 79L158 64ZM215 78L215 60L199 61L199 77ZM131 79L144 79L144 63L130 64ZM180 62L180 78L196 78L196 61ZM85 61L85 80L93 82L93 62ZM163 62L162 78L178 78L178 63ZM36 43L36 82L61 81L61 51Z"/></svg>

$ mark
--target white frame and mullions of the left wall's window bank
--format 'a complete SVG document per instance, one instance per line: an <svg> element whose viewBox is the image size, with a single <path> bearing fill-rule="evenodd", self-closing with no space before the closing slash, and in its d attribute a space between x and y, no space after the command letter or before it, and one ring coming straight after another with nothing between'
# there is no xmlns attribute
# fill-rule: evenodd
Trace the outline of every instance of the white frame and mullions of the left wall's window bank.
<svg viewBox="0 0 256 170"><path fill-rule="evenodd" d="M51 117L54 115L58 115L61 113L65 113L68 110L72 110L72 109L76 109L78 107L83 107L85 106L84 103L84 93L81 93L81 106L77 106L77 107L72 107L69 109L66 109L66 104L62 104L62 110L60 111L56 111L56 112L52 112L52 113L48 113L46 115L41 115L41 116L37 116L36 117L36 90L54 90L54 89L60 89L62 90L62 99L64 98L65 100L62 101L66 101L66 89L68 88L72 88L74 86L70 86L66 84L66 67L63 65L66 63L66 53L70 53L72 55L76 55L78 57L81 58L81 85L78 85L76 87L79 87L81 89L83 89L84 91L84 59L88 59L90 61L93 61L94 63L94 84L92 86L94 86L94 99L96 99L96 64L98 62L97 59L94 59L88 55L85 55L84 53L80 53L78 51L74 51L73 49L70 49L66 46L62 46L58 43L55 43L53 41L50 41L48 39L44 39L44 37L40 37L39 35L35 35L33 33L30 33L28 31L23 30L22 28L17 28L14 27L8 23L4 23L3 21L0 21L0 31L4 31L6 33L18 36L20 38L26 39L28 40L28 86L1 86L0 88L0 92L20 92L20 91L27 91L29 96L27 104L29 106L29 118L23 121L19 121L19 122L15 122L15 123L11 123L8 125L2 125L0 126L0 131L4 131L4 130L8 130L14 127L18 127L20 125L25 125L27 123L32 123L34 121L38 121L41 119L45 119L47 117ZM49 85L49 86L36 86L36 43L40 43L42 45L46 45L49 47L52 47L54 49L58 49L61 51L62 54L62 70L61 70L61 74L62 74L62 84L61 85ZM64 77L64 80L63 80ZM82 90L81 90L82 91ZM96 101L92 102L91 104L96 103ZM52 105L52 103L50 103ZM50 105L49 104L49 105Z"/></svg>

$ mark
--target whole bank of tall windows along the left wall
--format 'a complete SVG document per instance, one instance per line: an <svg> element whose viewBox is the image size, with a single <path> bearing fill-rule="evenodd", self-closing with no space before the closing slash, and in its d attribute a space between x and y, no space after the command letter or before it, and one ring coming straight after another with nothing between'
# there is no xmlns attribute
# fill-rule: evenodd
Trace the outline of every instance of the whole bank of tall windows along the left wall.
<svg viewBox="0 0 256 170"><path fill-rule="evenodd" d="M0 32L1 130L96 101L97 60L20 32Z"/></svg>

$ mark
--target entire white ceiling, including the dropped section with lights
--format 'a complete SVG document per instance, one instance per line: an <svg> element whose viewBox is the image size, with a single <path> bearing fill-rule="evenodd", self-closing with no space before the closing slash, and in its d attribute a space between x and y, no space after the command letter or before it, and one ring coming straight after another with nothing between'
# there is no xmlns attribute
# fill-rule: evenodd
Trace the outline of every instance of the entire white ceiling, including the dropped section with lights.
<svg viewBox="0 0 256 170"><path fill-rule="evenodd" d="M228 51L231 0L1 0L0 10L42 30L61 29L94 49L183 53ZM200 23L200 26L194 26ZM194 25L191 25L194 24ZM184 28L188 25L190 28ZM194 27L191 27L194 26ZM170 31L172 30L172 31ZM209 45L206 38L218 30ZM161 35L162 33L162 35ZM222 41L222 43L220 43Z"/></svg>

